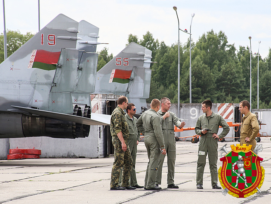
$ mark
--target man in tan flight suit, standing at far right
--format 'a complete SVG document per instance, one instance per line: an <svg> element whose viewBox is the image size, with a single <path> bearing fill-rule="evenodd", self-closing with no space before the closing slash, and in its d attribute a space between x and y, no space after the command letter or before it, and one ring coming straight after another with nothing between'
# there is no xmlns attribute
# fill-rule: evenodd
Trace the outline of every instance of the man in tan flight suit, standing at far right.
<svg viewBox="0 0 271 204"><path fill-rule="evenodd" d="M257 134L259 132L259 123L255 114L250 112L250 104L247 100L243 100L239 104L241 114L244 114L242 126L240 130L240 145L252 145L251 151L256 146Z"/></svg>

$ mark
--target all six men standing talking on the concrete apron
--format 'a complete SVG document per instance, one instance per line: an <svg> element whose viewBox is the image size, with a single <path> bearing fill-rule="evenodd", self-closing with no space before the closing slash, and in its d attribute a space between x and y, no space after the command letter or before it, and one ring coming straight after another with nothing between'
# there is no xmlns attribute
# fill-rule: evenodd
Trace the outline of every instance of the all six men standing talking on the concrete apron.
<svg viewBox="0 0 271 204"><path fill-rule="evenodd" d="M208 154L211 183L213 189L221 189L217 185L217 155L218 139L225 137L229 132L229 125L217 113L211 110L212 102L202 102L201 110L203 115L198 118L195 126L197 135L201 135L198 149L197 162L197 188L203 189L203 173ZM124 113L126 109L126 114ZM165 155L167 154L167 188L179 188L174 184L176 141L174 136L174 125L182 128L185 122L181 122L175 113L170 112L170 99L164 97L159 101L153 99L151 108L137 120L136 107L128 103L125 96L118 99L118 106L111 115L110 131L114 145L114 163L111 172L110 190L134 190L143 188L145 190L161 190L162 167ZM255 114L251 113L248 101L241 101L239 104L243 123L241 126L241 145L251 144L254 150L256 135L259 132L259 125ZM256 122L255 122L256 121ZM219 126L223 131L217 135ZM139 186L136 180L136 153L140 139L140 132L144 135L144 142L148 153L148 165L145 175L144 186ZM254 144L255 143L255 144ZM162 155L161 155L162 154Z"/></svg>

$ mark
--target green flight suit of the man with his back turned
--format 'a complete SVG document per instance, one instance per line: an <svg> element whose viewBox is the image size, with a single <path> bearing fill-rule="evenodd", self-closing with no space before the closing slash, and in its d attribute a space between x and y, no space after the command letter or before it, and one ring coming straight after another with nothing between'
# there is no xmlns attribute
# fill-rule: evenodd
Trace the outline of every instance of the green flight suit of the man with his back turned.
<svg viewBox="0 0 271 204"><path fill-rule="evenodd" d="M147 148L149 159L144 187L147 189L154 188L161 154L159 148L165 148L161 120L156 111L150 108L142 113L136 122L136 126L137 129L144 134L144 143Z"/></svg>

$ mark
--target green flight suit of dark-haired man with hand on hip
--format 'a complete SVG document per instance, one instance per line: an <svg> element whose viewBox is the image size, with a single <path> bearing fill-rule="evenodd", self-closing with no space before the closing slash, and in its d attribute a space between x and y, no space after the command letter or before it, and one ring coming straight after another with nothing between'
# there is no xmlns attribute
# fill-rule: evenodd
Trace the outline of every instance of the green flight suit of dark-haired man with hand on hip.
<svg viewBox="0 0 271 204"><path fill-rule="evenodd" d="M208 119L209 118L209 119ZM217 113L212 112L210 117L206 116L206 113L199 116L195 126L195 132L197 135L201 135L201 139L198 145L198 165L197 165L197 184L203 184L203 172L206 164L206 156L208 153L211 183L212 186L217 184L217 148L218 139L213 139L213 133L218 132L219 126L222 126L223 131L220 133L219 138L225 137L229 133L229 125L223 119L223 117ZM202 129L211 129L206 134L202 134Z"/></svg>

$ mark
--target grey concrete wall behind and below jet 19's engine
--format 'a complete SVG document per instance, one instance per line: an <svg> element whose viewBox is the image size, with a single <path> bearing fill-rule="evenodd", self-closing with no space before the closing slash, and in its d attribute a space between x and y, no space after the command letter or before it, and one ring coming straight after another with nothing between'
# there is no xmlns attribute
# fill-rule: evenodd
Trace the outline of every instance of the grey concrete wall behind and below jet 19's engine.
<svg viewBox="0 0 271 204"><path fill-rule="evenodd" d="M116 100L112 94L92 95L95 113L106 114L106 101ZM11 127L12 128L12 127ZM107 155L107 131L104 126L90 126L89 136L76 139L50 137L0 139L0 159L7 159L8 150L14 148L41 150L41 158L103 158Z"/></svg>

